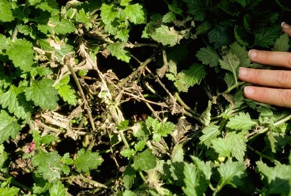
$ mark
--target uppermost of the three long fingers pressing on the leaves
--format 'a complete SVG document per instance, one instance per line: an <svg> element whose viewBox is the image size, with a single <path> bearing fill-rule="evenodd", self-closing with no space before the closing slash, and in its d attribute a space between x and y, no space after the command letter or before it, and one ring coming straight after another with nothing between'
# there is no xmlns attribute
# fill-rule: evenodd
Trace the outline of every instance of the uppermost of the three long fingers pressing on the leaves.
<svg viewBox="0 0 291 196"><path fill-rule="evenodd" d="M249 51L249 57L252 62L257 62L259 64L291 68L290 52L251 49Z"/></svg>

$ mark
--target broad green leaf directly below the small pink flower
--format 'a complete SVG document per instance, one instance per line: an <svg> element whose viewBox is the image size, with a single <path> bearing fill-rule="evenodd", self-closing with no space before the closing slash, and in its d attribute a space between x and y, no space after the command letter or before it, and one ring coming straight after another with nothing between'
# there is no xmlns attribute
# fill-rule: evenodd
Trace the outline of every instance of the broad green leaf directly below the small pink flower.
<svg viewBox="0 0 291 196"><path fill-rule="evenodd" d="M62 166L59 163L61 158L57 151L44 152L39 150L32 157L32 166L37 166L37 171L42 174L43 179L52 182L61 178Z"/></svg>

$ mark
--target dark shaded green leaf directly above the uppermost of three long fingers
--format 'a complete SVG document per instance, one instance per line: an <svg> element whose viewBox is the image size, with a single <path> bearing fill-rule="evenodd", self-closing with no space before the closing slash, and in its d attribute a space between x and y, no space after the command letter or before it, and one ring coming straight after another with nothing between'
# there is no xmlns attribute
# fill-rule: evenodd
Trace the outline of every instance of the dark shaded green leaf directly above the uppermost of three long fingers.
<svg viewBox="0 0 291 196"><path fill-rule="evenodd" d="M275 27L265 27L254 32L255 35L255 46L268 47L273 45L275 39L281 34L281 28L279 26Z"/></svg>

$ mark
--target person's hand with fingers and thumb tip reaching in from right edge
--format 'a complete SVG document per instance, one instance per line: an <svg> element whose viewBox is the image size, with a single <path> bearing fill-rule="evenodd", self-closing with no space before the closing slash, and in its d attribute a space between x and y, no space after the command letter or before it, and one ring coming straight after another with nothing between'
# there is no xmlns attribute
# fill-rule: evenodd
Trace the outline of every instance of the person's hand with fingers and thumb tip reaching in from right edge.
<svg viewBox="0 0 291 196"><path fill-rule="evenodd" d="M291 26L281 24L282 31L291 36ZM247 86L243 90L246 98L275 106L291 107L291 52L275 52L251 49L252 62L278 67L277 70L259 70L241 67L239 78L242 81L259 85Z"/></svg>

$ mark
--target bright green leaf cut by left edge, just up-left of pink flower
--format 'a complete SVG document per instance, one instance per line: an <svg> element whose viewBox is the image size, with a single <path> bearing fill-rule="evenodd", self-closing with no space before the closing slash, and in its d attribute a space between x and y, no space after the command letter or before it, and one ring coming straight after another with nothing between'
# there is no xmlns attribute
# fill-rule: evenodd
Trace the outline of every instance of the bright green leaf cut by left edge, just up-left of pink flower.
<svg viewBox="0 0 291 196"><path fill-rule="evenodd" d="M18 131L21 130L17 119L9 116L5 110L0 111L0 143L3 143L10 136L15 139Z"/></svg>

